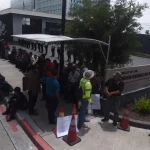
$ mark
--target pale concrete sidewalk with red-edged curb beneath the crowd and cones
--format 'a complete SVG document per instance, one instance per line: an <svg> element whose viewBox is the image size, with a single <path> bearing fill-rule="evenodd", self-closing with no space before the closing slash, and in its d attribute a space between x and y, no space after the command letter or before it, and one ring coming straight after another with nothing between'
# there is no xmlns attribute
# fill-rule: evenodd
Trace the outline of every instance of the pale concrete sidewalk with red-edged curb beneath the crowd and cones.
<svg viewBox="0 0 150 150"><path fill-rule="evenodd" d="M22 73L9 64L9 62L0 60L0 73L6 77L6 80L13 86L22 87ZM40 99L39 95L39 99ZM64 107L65 115L71 114L71 106L62 101L60 107ZM89 130L80 130L79 137L82 141L73 147L68 146L62 138L57 139L51 129L54 125L49 125L47 121L47 112L45 102L38 101L36 108L39 115L30 117L26 112L19 111L17 117L20 123L39 147L45 150L149 150L150 131L131 127L130 132L117 130L110 123L101 123L100 117L92 118L87 125Z"/></svg>

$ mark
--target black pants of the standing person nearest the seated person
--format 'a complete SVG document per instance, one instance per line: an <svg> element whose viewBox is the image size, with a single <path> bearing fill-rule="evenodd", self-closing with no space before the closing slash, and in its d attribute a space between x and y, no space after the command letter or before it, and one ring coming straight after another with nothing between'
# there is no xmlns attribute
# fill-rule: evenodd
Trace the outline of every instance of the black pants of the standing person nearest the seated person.
<svg viewBox="0 0 150 150"><path fill-rule="evenodd" d="M38 93L36 95L32 95L32 93L29 93L29 112L34 112L34 107L37 102Z"/></svg>

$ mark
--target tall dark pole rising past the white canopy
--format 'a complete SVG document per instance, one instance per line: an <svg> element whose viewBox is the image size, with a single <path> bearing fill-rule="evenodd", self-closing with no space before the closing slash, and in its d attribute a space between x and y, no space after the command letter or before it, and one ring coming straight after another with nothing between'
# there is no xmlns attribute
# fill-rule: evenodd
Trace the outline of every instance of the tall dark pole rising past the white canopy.
<svg viewBox="0 0 150 150"><path fill-rule="evenodd" d="M61 35L65 35L65 24L66 24L66 0L62 0ZM63 74L63 68L64 68L64 42L61 42L59 75Z"/></svg>

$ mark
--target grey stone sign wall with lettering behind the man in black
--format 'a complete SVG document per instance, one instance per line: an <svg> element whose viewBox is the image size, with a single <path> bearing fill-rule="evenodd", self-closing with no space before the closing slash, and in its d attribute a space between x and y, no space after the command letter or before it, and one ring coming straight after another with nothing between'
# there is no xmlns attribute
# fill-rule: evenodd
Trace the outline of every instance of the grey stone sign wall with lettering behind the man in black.
<svg viewBox="0 0 150 150"><path fill-rule="evenodd" d="M112 78L116 71L122 73L122 79L125 83L124 94L150 86L150 65L108 69L106 80Z"/></svg>

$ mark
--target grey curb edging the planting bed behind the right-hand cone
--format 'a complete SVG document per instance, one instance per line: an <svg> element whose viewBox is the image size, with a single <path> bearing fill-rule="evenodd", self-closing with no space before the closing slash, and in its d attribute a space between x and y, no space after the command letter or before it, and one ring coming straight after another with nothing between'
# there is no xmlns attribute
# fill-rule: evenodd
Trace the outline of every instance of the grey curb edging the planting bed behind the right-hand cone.
<svg viewBox="0 0 150 150"><path fill-rule="evenodd" d="M112 119L113 113L110 113L110 118ZM122 119L123 116L119 115L119 121ZM129 123L133 127L142 128L142 129L150 129L150 122L139 121L134 119L129 119Z"/></svg>

